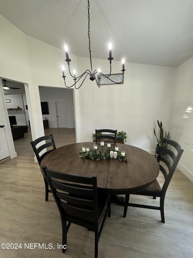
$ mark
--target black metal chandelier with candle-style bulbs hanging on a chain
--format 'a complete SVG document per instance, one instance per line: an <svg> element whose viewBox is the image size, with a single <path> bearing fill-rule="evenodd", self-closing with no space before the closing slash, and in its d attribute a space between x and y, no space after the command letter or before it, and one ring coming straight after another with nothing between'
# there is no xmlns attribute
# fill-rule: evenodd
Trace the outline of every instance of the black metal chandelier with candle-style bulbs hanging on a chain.
<svg viewBox="0 0 193 258"><path fill-rule="evenodd" d="M89 0L88 0L88 39L89 39L89 53L90 53L90 67L91 67L91 70L86 70L84 73L82 73L80 76L76 76L76 71L74 70L73 71L73 75L72 75L72 73L70 72L70 62L71 62L71 59L69 59L69 56L68 56L68 47L67 47L67 45L64 43L64 50L65 50L65 54L66 54L66 62L67 62L67 64L68 64L68 69L69 69L69 73L70 73L70 75L71 75L71 77L73 77L74 78L74 84L73 85L71 85L71 86L66 86L66 82L65 82L65 67L64 67L64 65L62 65L62 73L63 73L63 78L64 78L64 82L65 82L65 86L67 87L67 88L71 88L71 87L75 87L76 89L79 89L80 87L81 87L81 85L83 84L83 82L84 82L84 80L86 79L86 77L89 75L90 76L90 80L91 81L94 81L94 80L96 80L96 74L98 73L98 79L99 79L99 82L97 82L97 80L96 80L96 83L97 83L97 85L98 85L98 87L100 87L100 80L101 80L101 78L107 78L107 79L109 79L110 81L112 81L113 83L122 83L123 82L123 79L124 79L124 71L125 71L125 60L124 60L124 58L122 59L122 81L121 82L116 82L116 81L114 81L114 80L112 80L112 79L110 79L109 77L110 77L110 75L111 75L111 62L112 62L112 60L113 60L113 57L112 57L112 43L111 43L111 41L109 41L109 58L108 58L108 60L109 60L109 63L110 63L110 72L109 72L109 75L105 75L105 74L103 74L103 73L101 73L101 71L100 71L100 68L98 68L98 70L96 69L96 70L94 70L94 72L93 72L93 69L92 69L92 59L91 59L91 48L90 48L90 13L89 13L89 8L90 8L90 3L89 3ZM79 87L77 87L76 86L76 83L82 78L84 76L84 79L83 79L83 81L82 81L82 83L81 83L81 85L79 86Z"/></svg>

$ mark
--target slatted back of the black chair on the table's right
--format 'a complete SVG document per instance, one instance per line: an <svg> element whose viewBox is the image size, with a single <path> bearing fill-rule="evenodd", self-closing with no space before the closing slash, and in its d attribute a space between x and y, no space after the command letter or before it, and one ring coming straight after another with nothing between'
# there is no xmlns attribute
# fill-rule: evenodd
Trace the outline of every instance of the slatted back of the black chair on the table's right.
<svg viewBox="0 0 193 258"><path fill-rule="evenodd" d="M165 147L165 144L167 144L167 148ZM176 149L176 153L174 151L172 151L171 149L171 145L173 148ZM164 168L161 164L160 164L160 170L163 172L163 175L164 175L164 178L165 178L165 182L164 182L164 185L162 187L162 192L166 192L167 188L168 188L168 185L169 185L169 182L171 181L172 179L172 176L174 174L174 171L178 165L178 162L182 156L182 153L183 153L183 149L181 148L181 146L179 145L179 143L173 141L173 140L170 140L170 139L167 139L167 138L163 138L163 142L162 142L162 146L161 146L161 149L160 149L160 153L157 157L157 161L160 163L160 161L164 162L165 165L167 166L168 168L168 173L166 171L166 168ZM163 156L163 153L166 154L166 157ZM170 158L169 158L170 157Z"/></svg>

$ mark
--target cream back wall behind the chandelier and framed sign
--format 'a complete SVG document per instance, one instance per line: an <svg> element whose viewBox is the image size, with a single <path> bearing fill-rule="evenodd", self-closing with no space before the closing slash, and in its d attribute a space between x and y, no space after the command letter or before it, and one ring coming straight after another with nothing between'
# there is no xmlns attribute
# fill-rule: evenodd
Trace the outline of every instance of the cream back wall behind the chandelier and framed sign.
<svg viewBox="0 0 193 258"><path fill-rule="evenodd" d="M109 73L109 61L93 59L94 69ZM79 73L90 68L89 58L78 57ZM112 62L112 73L121 73L121 62ZM157 119L170 128L171 99L176 68L125 64L124 84L101 85L85 80L79 89L82 141L90 141L95 129L125 131L127 144L154 154Z"/></svg>

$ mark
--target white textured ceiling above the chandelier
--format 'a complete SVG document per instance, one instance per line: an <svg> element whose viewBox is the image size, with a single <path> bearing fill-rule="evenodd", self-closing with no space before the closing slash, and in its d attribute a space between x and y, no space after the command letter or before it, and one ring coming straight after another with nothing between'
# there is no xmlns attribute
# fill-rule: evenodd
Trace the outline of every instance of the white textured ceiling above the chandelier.
<svg viewBox="0 0 193 258"><path fill-rule="evenodd" d="M0 14L36 39L89 57L87 0L0 0ZM193 0L90 0L92 57L177 67L193 56Z"/></svg>

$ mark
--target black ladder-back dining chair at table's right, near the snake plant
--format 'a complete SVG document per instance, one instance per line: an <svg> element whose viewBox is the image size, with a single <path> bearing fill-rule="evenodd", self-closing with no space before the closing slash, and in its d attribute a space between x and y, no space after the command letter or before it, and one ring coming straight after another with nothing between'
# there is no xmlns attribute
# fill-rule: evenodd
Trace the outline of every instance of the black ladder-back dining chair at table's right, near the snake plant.
<svg viewBox="0 0 193 258"><path fill-rule="evenodd" d="M167 148L164 147L165 144L167 144ZM140 192L135 193L138 195L152 196L153 199L156 199L156 197L160 197L160 206L150 206L150 205L129 203L129 194L126 194L123 217L126 217L128 206L141 207L141 208L147 208L147 209L153 209L153 210L160 210L161 220L163 223L165 223L164 199L166 195L166 190L168 188L169 182L172 179L172 176L174 174L176 166L178 165L180 157L182 156L183 151L184 150L181 148L179 143L166 138L163 139L162 146L157 157L157 161L160 164L160 171L163 173L165 178L163 187L161 188L157 179L155 179L149 187L147 187L146 189ZM163 156L163 153L166 156Z"/></svg>

